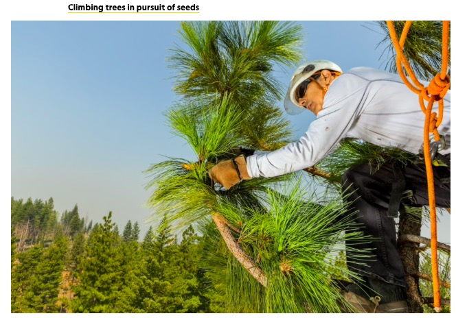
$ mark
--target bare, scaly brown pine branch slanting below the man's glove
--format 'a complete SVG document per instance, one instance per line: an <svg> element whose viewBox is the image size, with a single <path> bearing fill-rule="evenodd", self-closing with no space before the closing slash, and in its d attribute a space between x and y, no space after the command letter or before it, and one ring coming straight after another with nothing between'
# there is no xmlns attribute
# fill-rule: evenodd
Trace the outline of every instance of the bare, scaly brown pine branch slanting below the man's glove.
<svg viewBox="0 0 456 318"><path fill-rule="evenodd" d="M231 227L229 226L228 220L220 215L220 213L214 213L214 215L212 215L212 219L214 220L214 223L216 223L220 234L222 234L223 240L227 243L227 247L233 256L236 257L240 264L242 264L242 266L251 273L255 280L258 280L260 284L266 287L266 274L262 271L262 269L260 269L260 267L255 265L253 259L248 256L244 252L244 249L242 249L242 246L236 242L236 238L234 238L233 234L230 232Z"/></svg>

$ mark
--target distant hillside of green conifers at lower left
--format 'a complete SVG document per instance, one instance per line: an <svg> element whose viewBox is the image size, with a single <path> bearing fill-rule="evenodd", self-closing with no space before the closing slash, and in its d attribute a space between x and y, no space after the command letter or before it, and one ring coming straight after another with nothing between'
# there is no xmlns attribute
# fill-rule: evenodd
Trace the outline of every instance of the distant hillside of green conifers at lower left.
<svg viewBox="0 0 456 318"><path fill-rule="evenodd" d="M11 203L12 313L220 310L192 225L178 239L164 218L141 239L137 221L119 234L111 212L92 226L77 205L58 213L52 198Z"/></svg>

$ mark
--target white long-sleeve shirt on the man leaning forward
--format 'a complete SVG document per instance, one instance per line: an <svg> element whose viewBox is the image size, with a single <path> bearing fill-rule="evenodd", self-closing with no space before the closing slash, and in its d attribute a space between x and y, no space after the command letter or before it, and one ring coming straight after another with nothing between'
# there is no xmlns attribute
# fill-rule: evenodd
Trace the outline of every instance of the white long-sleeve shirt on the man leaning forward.
<svg viewBox="0 0 456 318"><path fill-rule="evenodd" d="M428 86L427 82L423 84ZM441 154L451 151L450 103L448 90L444 118L438 127L448 148ZM437 103L434 109L438 114ZM247 171L257 178L311 167L345 137L418 154L423 143L424 117L418 95L399 75L365 67L351 69L334 79L324 97L323 109L304 136L276 151L247 157Z"/></svg>

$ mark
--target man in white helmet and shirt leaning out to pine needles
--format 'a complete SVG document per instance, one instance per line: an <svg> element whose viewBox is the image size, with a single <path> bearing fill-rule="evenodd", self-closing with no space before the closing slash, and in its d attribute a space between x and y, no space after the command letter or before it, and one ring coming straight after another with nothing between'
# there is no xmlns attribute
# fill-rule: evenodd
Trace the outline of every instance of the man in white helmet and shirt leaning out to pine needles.
<svg viewBox="0 0 456 318"><path fill-rule="evenodd" d="M441 141L435 144L435 199L450 206L450 91L444 97ZM364 264L347 252L348 267L358 274L345 298L360 312L407 312L404 269L396 250L394 217L402 195L408 204L428 204L426 169L420 155L424 114L418 97L395 74L367 68L342 72L334 62L317 60L299 66L286 93L285 110L310 110L317 119L299 141L276 151L216 164L209 176L229 189L242 180L275 177L317 164L342 138L358 138L374 145L398 147L416 155L415 162L390 162L354 167L343 176L343 189L353 217L372 241L358 245L371 251ZM422 150L421 150L422 151Z"/></svg>

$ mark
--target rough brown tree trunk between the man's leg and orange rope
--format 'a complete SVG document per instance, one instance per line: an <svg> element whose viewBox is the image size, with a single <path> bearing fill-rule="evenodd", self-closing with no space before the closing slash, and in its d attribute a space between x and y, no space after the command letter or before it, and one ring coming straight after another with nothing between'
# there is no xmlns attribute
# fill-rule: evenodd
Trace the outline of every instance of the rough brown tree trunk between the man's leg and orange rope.
<svg viewBox="0 0 456 318"><path fill-rule="evenodd" d="M398 252L404 265L405 282L407 284L407 303L409 304L410 313L423 313L419 278L413 275L419 272L420 243L402 240L401 236L406 234L420 236L421 223L421 214L419 216L411 215L407 210L400 213Z"/></svg>

